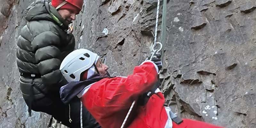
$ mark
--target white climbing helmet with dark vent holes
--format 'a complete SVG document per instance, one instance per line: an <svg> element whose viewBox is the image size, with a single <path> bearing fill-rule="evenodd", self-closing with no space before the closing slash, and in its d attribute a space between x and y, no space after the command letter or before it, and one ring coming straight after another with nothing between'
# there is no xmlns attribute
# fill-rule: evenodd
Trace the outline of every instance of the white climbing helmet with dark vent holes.
<svg viewBox="0 0 256 128"><path fill-rule="evenodd" d="M71 81L79 81L81 73L91 68L98 58L99 56L96 53L87 49L77 49L70 52L61 62L60 72L68 83Z"/></svg>

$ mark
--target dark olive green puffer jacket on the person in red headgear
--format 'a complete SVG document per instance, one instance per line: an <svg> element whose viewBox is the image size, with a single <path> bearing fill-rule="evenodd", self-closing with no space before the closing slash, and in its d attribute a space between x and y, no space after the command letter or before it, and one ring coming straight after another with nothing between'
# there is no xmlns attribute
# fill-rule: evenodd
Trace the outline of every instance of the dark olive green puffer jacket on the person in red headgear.
<svg viewBox="0 0 256 128"><path fill-rule="evenodd" d="M67 33L57 10L46 0L33 2L26 10L28 21L20 32L17 48L17 66L22 74L36 74L34 82L45 93L58 92L66 84L59 68L65 56L74 50L74 36ZM20 77L23 98L29 96L31 78ZM44 95L34 88L35 99Z"/></svg>

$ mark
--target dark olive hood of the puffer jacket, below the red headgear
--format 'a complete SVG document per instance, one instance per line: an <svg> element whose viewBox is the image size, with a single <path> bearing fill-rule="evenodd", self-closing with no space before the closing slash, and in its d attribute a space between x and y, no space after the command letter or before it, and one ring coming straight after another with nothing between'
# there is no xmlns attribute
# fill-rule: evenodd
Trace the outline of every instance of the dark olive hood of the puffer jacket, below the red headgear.
<svg viewBox="0 0 256 128"><path fill-rule="evenodd" d="M26 20L49 20L63 29L68 29L68 24L60 16L59 12L47 1L36 0L26 9Z"/></svg>

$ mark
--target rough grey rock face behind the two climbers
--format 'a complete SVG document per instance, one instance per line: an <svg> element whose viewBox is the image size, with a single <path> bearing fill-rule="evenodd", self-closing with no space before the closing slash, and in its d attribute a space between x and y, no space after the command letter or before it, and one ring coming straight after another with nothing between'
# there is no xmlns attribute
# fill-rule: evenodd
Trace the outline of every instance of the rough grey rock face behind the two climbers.
<svg viewBox="0 0 256 128"><path fill-rule="evenodd" d="M32 2L0 0L0 128L45 128L49 121L37 112L28 117L18 84L16 41ZM76 48L100 54L112 76L132 73L149 56L156 7L157 0L86 0L74 22ZM179 116L256 127L255 8L254 0L168 0L160 80Z"/></svg>

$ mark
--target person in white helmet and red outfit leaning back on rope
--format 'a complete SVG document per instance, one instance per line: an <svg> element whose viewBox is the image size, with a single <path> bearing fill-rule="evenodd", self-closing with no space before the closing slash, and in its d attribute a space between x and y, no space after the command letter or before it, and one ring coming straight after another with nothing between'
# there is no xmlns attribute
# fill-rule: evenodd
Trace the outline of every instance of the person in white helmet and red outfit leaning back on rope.
<svg viewBox="0 0 256 128"><path fill-rule="evenodd" d="M69 83L61 87L60 98L64 103L76 96L80 98L102 128L120 128L133 100L138 102L125 127L221 128L195 120L176 120L177 116L172 118L171 109L164 106L163 93L155 86L157 73L162 68L160 59L144 61L127 77L110 77L108 66L99 58L86 49L68 54L60 65L60 71ZM152 90L154 87L156 89ZM141 99L149 91L154 91L149 99Z"/></svg>

